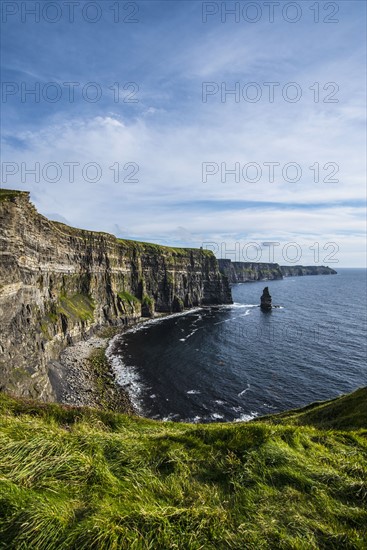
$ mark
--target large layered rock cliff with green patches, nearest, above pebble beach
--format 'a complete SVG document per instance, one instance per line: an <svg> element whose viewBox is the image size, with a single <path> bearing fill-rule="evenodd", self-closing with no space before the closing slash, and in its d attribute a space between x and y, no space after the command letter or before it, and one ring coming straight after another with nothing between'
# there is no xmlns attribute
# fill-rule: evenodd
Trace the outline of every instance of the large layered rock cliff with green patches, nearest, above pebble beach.
<svg viewBox="0 0 367 550"><path fill-rule="evenodd" d="M68 343L141 315L231 303L214 255L52 222L0 191L0 389L54 399L48 362Z"/></svg>

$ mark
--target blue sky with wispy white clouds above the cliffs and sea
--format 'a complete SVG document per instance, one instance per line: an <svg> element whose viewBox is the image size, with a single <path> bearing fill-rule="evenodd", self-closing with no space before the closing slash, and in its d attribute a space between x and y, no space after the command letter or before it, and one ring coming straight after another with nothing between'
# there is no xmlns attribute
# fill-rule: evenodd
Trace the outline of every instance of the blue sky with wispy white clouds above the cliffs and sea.
<svg viewBox="0 0 367 550"><path fill-rule="evenodd" d="M366 3L1 3L3 188L72 226L366 267Z"/></svg>

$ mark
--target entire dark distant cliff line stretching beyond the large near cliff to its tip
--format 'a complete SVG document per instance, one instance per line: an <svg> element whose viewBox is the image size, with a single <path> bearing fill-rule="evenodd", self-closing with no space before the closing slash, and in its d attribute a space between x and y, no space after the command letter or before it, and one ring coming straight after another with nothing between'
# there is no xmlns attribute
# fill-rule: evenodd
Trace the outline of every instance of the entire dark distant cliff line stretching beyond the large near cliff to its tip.
<svg viewBox="0 0 367 550"><path fill-rule="evenodd" d="M218 260L220 271L228 277L230 283L248 283L251 281L272 281L283 277L302 275L335 275L336 271L325 266L280 266L275 263L232 262Z"/></svg>

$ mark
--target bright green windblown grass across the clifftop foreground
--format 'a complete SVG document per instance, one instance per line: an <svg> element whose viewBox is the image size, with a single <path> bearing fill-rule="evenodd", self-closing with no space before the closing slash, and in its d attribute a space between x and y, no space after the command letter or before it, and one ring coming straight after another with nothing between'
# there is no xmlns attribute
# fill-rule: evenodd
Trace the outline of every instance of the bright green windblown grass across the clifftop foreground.
<svg viewBox="0 0 367 550"><path fill-rule="evenodd" d="M0 394L0 548L366 549L367 388L241 424Z"/></svg>

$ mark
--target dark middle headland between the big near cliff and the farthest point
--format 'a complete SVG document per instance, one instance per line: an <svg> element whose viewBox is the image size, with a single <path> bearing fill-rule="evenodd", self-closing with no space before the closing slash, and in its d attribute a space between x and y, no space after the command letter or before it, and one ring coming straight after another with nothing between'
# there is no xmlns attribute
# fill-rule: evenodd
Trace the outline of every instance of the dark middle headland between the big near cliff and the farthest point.
<svg viewBox="0 0 367 550"><path fill-rule="evenodd" d="M283 279L278 264L232 262L231 260L218 260L218 264L230 283Z"/></svg>

